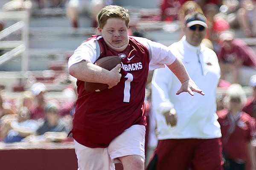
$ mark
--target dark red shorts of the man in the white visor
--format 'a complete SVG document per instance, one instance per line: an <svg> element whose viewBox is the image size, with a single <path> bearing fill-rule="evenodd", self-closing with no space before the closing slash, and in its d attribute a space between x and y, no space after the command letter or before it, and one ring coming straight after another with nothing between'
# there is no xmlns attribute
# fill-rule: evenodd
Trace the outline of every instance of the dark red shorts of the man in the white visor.
<svg viewBox="0 0 256 170"><path fill-rule="evenodd" d="M221 139L160 140L146 170L223 170Z"/></svg>

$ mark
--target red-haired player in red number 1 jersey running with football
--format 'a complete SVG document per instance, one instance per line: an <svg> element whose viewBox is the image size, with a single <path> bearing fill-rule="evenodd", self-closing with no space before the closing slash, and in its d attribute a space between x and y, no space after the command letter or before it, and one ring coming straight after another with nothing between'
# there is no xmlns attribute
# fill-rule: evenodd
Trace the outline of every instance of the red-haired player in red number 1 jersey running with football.
<svg viewBox="0 0 256 170"><path fill-rule="evenodd" d="M71 76L77 78L78 99L73 118L73 138L79 170L144 170L144 98L148 71L165 67L180 80L182 92L204 95L182 62L157 42L128 36L128 11L106 6L98 15L99 35L83 42L70 57ZM93 63L120 56L121 64L108 71ZM88 92L84 82L108 84L108 89Z"/></svg>

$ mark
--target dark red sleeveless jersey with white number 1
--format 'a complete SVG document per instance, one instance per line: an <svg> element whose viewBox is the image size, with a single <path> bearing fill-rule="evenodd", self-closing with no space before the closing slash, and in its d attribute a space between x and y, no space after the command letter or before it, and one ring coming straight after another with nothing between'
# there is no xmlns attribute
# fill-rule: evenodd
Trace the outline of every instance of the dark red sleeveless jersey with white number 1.
<svg viewBox="0 0 256 170"><path fill-rule="evenodd" d="M84 146L108 147L125 129L146 125L144 98L150 57L148 48L132 37L122 52L108 48L101 36L92 38L97 38L101 47L99 58L112 55L122 58L122 77L116 86L100 92L87 92L84 82L77 81L79 96L72 133Z"/></svg>

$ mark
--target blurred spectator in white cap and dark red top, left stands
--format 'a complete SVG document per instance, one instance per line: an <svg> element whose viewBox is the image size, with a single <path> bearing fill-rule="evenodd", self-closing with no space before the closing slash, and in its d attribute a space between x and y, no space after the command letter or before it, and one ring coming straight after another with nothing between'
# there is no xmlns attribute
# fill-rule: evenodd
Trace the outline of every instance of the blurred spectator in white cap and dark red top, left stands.
<svg viewBox="0 0 256 170"><path fill-rule="evenodd" d="M35 96L35 101L30 110L31 119L40 119L45 117L44 107L46 105L45 93L47 91L45 85L41 82L35 82L31 86L31 92Z"/></svg>

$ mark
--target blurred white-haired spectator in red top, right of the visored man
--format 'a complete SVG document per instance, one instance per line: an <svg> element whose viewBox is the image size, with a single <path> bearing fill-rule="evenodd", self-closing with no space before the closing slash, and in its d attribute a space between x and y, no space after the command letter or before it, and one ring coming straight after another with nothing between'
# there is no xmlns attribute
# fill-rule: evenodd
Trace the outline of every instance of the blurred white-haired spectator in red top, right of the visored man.
<svg viewBox="0 0 256 170"><path fill-rule="evenodd" d="M241 85L232 84L225 97L226 109L218 111L221 125L224 170L255 170L255 119L241 111L246 101Z"/></svg>

